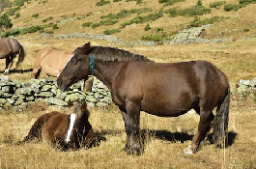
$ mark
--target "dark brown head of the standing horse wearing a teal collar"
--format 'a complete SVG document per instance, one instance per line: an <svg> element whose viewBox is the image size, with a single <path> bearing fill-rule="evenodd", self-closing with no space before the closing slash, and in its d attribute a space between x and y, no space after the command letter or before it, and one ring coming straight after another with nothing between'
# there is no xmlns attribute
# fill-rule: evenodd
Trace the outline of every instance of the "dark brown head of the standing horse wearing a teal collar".
<svg viewBox="0 0 256 169"><path fill-rule="evenodd" d="M90 57L88 54L90 47L91 44L88 42L73 51L71 59L57 77L58 87L62 91L66 91L77 81L88 78L90 73Z"/></svg>

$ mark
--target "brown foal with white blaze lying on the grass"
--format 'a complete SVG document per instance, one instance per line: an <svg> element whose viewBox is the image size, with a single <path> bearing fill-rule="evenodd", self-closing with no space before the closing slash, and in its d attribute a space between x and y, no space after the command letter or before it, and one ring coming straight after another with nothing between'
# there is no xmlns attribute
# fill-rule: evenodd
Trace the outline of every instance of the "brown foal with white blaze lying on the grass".
<svg viewBox="0 0 256 169"><path fill-rule="evenodd" d="M28 135L18 144L37 138L63 150L89 146L94 132L88 121L90 112L86 102L82 105L78 103L73 105L69 101L68 104L69 115L57 111L43 114L31 127Z"/></svg>

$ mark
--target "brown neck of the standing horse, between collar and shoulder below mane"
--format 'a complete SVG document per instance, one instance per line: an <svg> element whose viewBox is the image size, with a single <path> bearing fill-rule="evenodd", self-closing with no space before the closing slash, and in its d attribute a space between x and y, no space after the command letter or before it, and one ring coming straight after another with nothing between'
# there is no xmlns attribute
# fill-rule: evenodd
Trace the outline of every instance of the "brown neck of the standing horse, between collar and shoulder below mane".
<svg viewBox="0 0 256 169"><path fill-rule="evenodd" d="M96 63L94 75L104 84L108 89L111 89L113 79L121 70L124 62L99 62Z"/></svg>

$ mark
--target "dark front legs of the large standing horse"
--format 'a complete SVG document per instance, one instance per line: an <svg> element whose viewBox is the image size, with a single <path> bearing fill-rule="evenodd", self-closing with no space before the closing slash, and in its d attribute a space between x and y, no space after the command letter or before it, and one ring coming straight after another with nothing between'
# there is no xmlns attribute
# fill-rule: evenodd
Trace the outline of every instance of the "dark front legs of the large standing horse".
<svg viewBox="0 0 256 169"><path fill-rule="evenodd" d="M140 106L127 102L126 110L121 108L127 132L127 144L124 149L128 155L140 155L141 143L139 134Z"/></svg>

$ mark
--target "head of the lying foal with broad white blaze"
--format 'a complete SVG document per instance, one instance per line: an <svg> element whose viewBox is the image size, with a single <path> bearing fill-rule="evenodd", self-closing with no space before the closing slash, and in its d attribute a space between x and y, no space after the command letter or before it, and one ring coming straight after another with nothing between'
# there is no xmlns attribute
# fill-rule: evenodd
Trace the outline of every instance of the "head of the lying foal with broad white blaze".
<svg viewBox="0 0 256 169"><path fill-rule="evenodd" d="M82 135L86 132L86 130L91 129L91 125L89 124L89 121L88 121L90 112L87 109L86 102L84 102L83 104L78 104L78 103L72 104L71 101L69 101L68 105L70 108L70 115L68 115L69 130L68 130L65 141L66 143L70 143L70 142L72 143L76 141L76 140L73 140L75 139L74 138L75 134Z"/></svg>

